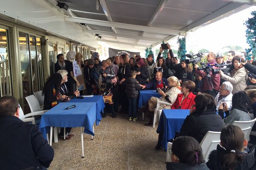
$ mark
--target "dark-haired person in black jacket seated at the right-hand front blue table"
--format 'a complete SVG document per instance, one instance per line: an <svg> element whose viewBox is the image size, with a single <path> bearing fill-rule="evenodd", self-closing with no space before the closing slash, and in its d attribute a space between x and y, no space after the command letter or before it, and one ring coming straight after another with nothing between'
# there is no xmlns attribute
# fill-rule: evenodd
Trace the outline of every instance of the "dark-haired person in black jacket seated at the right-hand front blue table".
<svg viewBox="0 0 256 170"><path fill-rule="evenodd" d="M180 136L191 136L199 143L208 131L220 132L224 126L220 115L216 114L214 98L209 94L195 97L195 110L191 109L180 129Z"/></svg>

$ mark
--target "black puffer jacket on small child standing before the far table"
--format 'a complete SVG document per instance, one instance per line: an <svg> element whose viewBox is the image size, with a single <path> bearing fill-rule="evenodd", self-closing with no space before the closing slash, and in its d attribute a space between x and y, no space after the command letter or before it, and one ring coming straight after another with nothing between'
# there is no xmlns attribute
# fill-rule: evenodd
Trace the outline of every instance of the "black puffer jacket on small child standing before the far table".
<svg viewBox="0 0 256 170"><path fill-rule="evenodd" d="M125 86L128 99L135 99L138 97L138 90L140 90L141 87L139 82L137 82L137 79L129 77L125 80Z"/></svg>

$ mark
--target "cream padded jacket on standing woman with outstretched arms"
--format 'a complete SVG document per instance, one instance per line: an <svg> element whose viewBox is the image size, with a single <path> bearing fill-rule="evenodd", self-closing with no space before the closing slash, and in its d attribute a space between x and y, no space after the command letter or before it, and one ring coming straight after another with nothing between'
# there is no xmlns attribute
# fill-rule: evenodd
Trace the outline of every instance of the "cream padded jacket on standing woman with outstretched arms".
<svg viewBox="0 0 256 170"><path fill-rule="evenodd" d="M236 93L237 91L244 91L247 87L246 80L248 79L247 71L244 67L240 68L233 77L229 77L228 75L221 75L221 78L231 82L233 85L232 94Z"/></svg>

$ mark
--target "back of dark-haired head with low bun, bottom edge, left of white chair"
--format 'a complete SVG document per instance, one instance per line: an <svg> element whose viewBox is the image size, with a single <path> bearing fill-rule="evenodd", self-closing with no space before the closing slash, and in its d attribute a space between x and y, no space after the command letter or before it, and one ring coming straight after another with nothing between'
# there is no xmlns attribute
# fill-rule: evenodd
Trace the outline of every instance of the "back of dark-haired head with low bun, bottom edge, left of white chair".
<svg viewBox="0 0 256 170"><path fill-rule="evenodd" d="M190 136L173 141L171 158L172 162L166 162L167 170L209 170L200 144Z"/></svg>

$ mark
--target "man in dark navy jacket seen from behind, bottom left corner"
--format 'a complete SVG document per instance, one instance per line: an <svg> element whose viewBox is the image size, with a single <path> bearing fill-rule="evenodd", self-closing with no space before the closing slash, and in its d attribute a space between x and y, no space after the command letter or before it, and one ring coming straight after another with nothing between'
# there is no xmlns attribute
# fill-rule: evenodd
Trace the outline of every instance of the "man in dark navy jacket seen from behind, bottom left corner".
<svg viewBox="0 0 256 170"><path fill-rule="evenodd" d="M37 125L20 120L19 104L13 96L0 98L0 169L46 170L54 150Z"/></svg>

